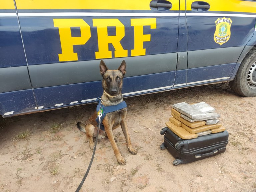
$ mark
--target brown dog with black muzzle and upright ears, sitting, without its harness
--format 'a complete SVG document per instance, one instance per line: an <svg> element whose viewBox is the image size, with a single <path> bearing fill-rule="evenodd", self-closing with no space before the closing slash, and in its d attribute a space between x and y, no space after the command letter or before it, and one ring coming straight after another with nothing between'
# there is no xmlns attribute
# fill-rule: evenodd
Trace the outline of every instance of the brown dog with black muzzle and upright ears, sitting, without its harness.
<svg viewBox="0 0 256 192"><path fill-rule="evenodd" d="M123 101L122 97L122 86L123 86L123 77L125 74L126 63L123 60L121 65L117 70L109 70L104 61L101 60L100 62L100 73L103 77L102 80L102 88L103 88L103 95L101 97L104 106L111 106L111 105L118 105ZM128 134L127 125L126 125L126 114L127 109L126 107L111 113L107 113L105 118L102 120L102 123L105 127L105 131L107 133L107 137L112 145L114 153L116 155L118 163L125 165L126 161L122 157L119 149L117 148L115 137L113 135L112 130L116 129L119 125L123 130L124 136L126 138L126 143L128 150L131 154L136 155L137 151L133 149L130 136ZM97 136L98 131L98 123L95 121L97 118L97 112L93 114L93 116L87 121L86 124L81 122L77 123L77 127L80 131L85 132L87 139L89 139L90 148L94 149L94 142L93 137ZM98 139L104 138L105 133L101 129L99 130Z"/></svg>

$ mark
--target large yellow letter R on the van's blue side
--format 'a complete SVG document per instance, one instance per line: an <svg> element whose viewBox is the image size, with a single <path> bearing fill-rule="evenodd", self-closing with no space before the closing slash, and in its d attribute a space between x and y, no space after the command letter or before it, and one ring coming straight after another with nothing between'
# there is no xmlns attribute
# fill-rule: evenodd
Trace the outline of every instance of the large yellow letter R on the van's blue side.
<svg viewBox="0 0 256 192"><path fill-rule="evenodd" d="M95 52L96 59L112 58L108 44L115 48L115 57L127 57L128 51L124 50L120 41L124 37L124 25L118 19L92 19L93 26L97 27L99 51ZM107 27L116 27L116 35L109 36Z"/></svg>

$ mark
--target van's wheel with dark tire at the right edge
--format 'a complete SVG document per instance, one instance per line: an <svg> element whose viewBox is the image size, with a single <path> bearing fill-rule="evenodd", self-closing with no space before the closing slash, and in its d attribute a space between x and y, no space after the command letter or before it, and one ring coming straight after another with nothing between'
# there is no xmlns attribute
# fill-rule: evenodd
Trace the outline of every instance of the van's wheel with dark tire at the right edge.
<svg viewBox="0 0 256 192"><path fill-rule="evenodd" d="M230 88L245 97L256 96L256 48L252 48L242 61Z"/></svg>

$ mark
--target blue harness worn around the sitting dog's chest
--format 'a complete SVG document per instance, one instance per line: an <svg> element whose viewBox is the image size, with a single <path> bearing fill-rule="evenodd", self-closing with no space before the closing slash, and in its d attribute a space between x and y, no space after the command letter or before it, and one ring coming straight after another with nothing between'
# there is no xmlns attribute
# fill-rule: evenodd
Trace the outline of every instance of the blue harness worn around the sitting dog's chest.
<svg viewBox="0 0 256 192"><path fill-rule="evenodd" d="M99 102L97 107L96 107L96 111L97 111L97 118L96 118L96 122L99 123L99 114L101 112L102 116L101 116L101 122L100 122L100 129L105 131L104 125L102 123L104 117L106 116L107 113L111 113L120 109L123 109L125 107L127 107L125 101L122 101L121 103L117 104L117 105L111 105L111 106L104 106L102 105L100 102L100 100L97 98L97 101Z"/></svg>

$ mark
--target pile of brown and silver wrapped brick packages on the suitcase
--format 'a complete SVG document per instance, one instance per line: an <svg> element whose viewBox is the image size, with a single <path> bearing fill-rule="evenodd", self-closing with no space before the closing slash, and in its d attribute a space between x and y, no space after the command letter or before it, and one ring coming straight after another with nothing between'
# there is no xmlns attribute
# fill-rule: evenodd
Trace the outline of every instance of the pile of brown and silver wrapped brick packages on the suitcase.
<svg viewBox="0 0 256 192"><path fill-rule="evenodd" d="M166 126L182 139L225 131L219 121L220 115L205 102L174 104L171 115Z"/></svg>

